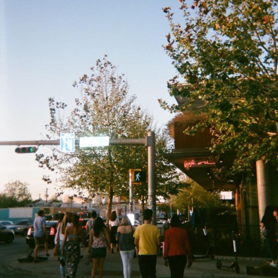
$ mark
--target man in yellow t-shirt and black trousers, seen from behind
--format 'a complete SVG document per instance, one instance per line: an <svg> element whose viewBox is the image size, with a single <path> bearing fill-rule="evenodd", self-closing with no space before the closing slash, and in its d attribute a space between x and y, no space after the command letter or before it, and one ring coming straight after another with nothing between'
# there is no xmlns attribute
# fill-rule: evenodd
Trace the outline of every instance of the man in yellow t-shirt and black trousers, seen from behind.
<svg viewBox="0 0 278 278"><path fill-rule="evenodd" d="M133 237L135 246L139 248L139 268L142 278L156 278L156 254L160 248L160 233L156 226L151 224L153 211L143 211L144 224L137 226Z"/></svg>

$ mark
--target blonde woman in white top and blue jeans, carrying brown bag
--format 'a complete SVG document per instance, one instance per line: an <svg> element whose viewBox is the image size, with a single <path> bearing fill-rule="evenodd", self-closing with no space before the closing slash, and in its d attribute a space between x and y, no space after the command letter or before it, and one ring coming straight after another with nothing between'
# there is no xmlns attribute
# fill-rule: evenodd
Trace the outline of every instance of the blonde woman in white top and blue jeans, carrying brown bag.
<svg viewBox="0 0 278 278"><path fill-rule="evenodd" d="M60 257L60 274L61 278L65 278L65 256L62 255L62 245L65 239L65 229L67 226L72 225L72 213L66 212L63 221L58 224L57 232L55 235L55 244L59 242L59 257ZM58 238L59 235L59 238Z"/></svg>

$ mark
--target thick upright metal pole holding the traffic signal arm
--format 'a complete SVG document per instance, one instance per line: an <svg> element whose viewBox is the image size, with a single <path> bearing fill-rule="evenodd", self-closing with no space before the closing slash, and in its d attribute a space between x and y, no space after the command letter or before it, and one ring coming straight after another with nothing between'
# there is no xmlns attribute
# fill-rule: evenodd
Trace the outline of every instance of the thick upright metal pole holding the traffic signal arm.
<svg viewBox="0 0 278 278"><path fill-rule="evenodd" d="M155 181L155 135L153 131L148 132L147 146L148 146L148 208L153 211L152 224L156 225L156 181Z"/></svg>

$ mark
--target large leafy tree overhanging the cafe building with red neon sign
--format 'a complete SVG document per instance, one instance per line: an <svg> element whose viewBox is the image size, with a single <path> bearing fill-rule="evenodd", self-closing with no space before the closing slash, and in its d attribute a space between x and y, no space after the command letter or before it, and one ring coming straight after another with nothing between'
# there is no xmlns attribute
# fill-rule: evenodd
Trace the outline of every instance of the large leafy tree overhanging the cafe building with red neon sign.
<svg viewBox="0 0 278 278"><path fill-rule="evenodd" d="M186 82L178 86L175 76L169 92L189 103L160 100L162 107L181 112L204 100L206 120L187 134L209 127L212 152L235 151L231 171L251 175L260 159L277 167L277 1L194 0L191 8L180 2L184 24L174 23L171 8L164 8L171 26L164 47Z"/></svg>

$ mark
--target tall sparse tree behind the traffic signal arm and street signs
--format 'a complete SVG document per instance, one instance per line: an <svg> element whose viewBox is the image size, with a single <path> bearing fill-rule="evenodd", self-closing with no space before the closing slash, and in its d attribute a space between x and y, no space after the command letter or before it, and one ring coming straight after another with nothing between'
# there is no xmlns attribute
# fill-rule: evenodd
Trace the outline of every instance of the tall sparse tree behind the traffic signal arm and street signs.
<svg viewBox="0 0 278 278"><path fill-rule="evenodd" d="M124 75L115 74L115 66L106 58L96 61L90 76L83 75L79 84L80 98L75 99L76 107L63 118L67 106L49 98L50 123L46 125L47 138L56 138L61 132L74 132L76 138L85 136L109 136L119 138L144 138L149 130L157 133L157 180L158 194L167 195L179 186L175 183L178 173L175 167L162 157L167 148L165 135L153 125L153 119L134 104L135 96L128 95L129 86ZM146 169L147 149L144 146L109 145L108 147L79 148L74 153L62 153L53 147L52 155L36 155L40 167L61 174L63 188L71 188L76 195L88 193L108 195L107 217L111 212L114 195L129 195L128 169ZM162 173L162 171L165 171ZM44 177L48 183L49 177ZM170 186L164 185L171 184ZM135 192L138 192L135 189ZM146 197L145 189L142 189ZM137 193L136 193L137 194ZM143 200L145 200L143 197ZM107 218L108 219L108 218Z"/></svg>

